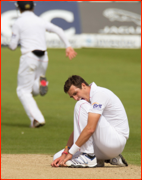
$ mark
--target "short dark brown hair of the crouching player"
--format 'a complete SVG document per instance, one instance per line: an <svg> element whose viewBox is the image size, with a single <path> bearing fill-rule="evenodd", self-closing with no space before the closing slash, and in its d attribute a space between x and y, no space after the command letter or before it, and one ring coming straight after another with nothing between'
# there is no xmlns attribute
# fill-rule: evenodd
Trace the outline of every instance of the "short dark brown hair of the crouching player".
<svg viewBox="0 0 142 180"><path fill-rule="evenodd" d="M72 75L70 76L64 85L64 92L67 93L71 87L71 85L74 85L78 88L82 88L82 83L86 84L86 86L89 86L89 84L80 76Z"/></svg>

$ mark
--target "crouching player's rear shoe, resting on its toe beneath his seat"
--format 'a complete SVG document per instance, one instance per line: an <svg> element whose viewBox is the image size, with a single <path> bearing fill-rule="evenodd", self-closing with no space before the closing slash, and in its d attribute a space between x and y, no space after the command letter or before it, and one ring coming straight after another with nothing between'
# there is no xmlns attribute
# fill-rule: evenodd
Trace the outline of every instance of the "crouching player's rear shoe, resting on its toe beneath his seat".
<svg viewBox="0 0 142 180"><path fill-rule="evenodd" d="M110 159L110 164L112 165L119 165L122 167L128 166L127 161L124 159L124 157L119 154L117 157Z"/></svg>

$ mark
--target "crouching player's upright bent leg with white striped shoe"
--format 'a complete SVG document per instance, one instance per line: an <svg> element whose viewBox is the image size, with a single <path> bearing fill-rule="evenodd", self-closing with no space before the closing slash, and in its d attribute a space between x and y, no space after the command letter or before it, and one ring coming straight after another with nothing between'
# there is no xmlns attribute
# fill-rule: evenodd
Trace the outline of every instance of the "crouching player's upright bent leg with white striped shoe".
<svg viewBox="0 0 142 180"><path fill-rule="evenodd" d="M90 103L85 100L77 101L74 108L74 143L87 125ZM80 147L78 156L66 162L68 167L96 167L97 159L94 154L92 136ZM76 155L76 154L75 154Z"/></svg>

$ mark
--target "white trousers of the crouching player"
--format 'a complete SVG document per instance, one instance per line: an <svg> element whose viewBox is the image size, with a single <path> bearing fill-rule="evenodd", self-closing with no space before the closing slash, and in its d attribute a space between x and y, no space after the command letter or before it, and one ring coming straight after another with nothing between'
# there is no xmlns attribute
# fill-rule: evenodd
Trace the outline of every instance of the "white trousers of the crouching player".
<svg viewBox="0 0 142 180"><path fill-rule="evenodd" d="M88 111L90 103L85 100L80 100L76 103L74 108L74 143L77 141L80 133L87 125ZM97 159L106 160L118 156L122 153L126 144L126 138L119 134L114 127L112 127L104 116L101 116L97 128L89 140L80 147L80 152L74 156L83 153L94 153ZM64 150L64 149L63 149ZM53 157L61 156L63 150L56 153Z"/></svg>

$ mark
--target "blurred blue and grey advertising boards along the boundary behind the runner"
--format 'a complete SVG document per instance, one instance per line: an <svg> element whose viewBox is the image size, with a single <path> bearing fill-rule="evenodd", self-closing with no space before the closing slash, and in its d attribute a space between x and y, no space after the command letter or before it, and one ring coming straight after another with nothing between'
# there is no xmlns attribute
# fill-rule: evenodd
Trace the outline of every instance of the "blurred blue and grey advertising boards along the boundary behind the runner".
<svg viewBox="0 0 142 180"><path fill-rule="evenodd" d="M141 47L140 1L35 1L35 14L60 26L72 46ZM11 26L20 16L14 1L1 2L1 44L7 45ZM64 47L55 34L46 34L48 47Z"/></svg>

